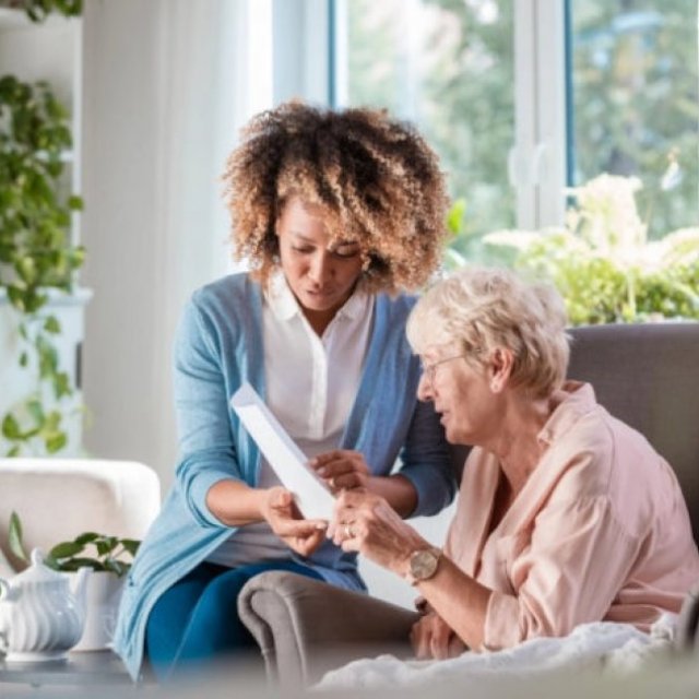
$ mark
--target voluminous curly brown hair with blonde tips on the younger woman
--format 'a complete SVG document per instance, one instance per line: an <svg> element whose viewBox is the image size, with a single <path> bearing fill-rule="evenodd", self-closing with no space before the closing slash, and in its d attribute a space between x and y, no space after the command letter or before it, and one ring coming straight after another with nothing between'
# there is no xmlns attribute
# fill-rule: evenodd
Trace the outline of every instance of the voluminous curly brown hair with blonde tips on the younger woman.
<svg viewBox="0 0 699 699"><path fill-rule="evenodd" d="M333 241L358 242L367 287L423 286L439 264L448 208L437 156L383 110L294 100L253 117L224 173L234 254L263 283L279 265L286 201L322 206Z"/></svg>

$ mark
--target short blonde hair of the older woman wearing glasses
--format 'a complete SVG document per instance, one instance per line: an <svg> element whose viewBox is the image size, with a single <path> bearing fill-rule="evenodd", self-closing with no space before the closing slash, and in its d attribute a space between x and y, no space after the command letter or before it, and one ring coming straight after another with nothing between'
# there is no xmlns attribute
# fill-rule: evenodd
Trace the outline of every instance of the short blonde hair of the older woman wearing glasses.
<svg viewBox="0 0 699 699"><path fill-rule="evenodd" d="M564 300L549 284L529 283L499 268L466 266L433 286L407 320L422 354L455 344L476 368L498 347L512 352L512 386L536 398L562 384L570 355Z"/></svg>

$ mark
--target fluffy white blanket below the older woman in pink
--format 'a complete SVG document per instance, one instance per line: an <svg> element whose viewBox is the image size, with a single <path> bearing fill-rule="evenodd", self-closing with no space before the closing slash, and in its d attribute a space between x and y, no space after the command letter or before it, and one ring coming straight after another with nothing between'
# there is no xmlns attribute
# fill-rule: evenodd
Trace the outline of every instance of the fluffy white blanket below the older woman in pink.
<svg viewBox="0 0 699 699"><path fill-rule="evenodd" d="M591 667L630 672L672 644L676 616L664 615L643 633L627 624L583 624L565 638L536 638L508 650L471 653L446 661L401 661L392 655L354 661L328 673L318 689L395 689L435 683L526 677Z"/></svg>

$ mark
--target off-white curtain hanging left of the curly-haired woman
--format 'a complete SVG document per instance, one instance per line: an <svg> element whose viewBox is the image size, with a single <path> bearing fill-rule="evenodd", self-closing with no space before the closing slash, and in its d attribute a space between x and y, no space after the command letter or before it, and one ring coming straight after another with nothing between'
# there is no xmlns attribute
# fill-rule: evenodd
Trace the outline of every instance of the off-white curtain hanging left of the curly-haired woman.
<svg viewBox="0 0 699 699"><path fill-rule="evenodd" d="M246 0L88 0L83 27L82 282L85 445L176 461L170 347L197 286L230 269L218 177L246 105L234 100ZM238 37L239 38L239 37Z"/></svg>

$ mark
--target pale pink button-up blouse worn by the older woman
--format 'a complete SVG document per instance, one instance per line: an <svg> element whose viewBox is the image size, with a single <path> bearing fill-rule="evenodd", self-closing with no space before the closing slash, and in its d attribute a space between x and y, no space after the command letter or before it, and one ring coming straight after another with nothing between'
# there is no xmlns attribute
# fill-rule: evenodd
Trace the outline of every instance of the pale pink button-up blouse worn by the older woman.
<svg viewBox="0 0 699 699"><path fill-rule="evenodd" d="M541 430L536 469L488 534L498 460L471 452L446 553L494 590L484 647L565 636L585 621L642 629L678 612L699 553L670 465L636 430L568 382Z"/></svg>

